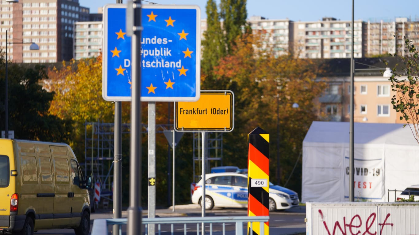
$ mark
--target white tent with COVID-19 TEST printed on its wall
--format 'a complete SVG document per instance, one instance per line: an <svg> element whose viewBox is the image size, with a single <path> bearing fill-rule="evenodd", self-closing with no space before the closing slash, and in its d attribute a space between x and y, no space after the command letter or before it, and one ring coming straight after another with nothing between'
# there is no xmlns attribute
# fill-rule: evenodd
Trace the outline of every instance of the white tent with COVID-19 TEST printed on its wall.
<svg viewBox="0 0 419 235"><path fill-rule="evenodd" d="M419 184L419 144L408 125L354 123L354 199L393 202ZM400 192L397 192L400 194ZM349 200L349 123L313 122L303 140L302 202Z"/></svg>

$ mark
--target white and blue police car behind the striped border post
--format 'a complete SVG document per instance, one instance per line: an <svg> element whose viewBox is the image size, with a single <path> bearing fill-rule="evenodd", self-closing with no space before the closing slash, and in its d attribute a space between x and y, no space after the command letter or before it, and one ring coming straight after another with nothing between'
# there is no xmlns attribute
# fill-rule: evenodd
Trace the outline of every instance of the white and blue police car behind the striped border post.
<svg viewBox="0 0 419 235"><path fill-rule="evenodd" d="M247 208L247 175L224 172L205 174L205 209L213 207ZM195 184L192 203L201 204L202 179ZM269 211L290 209L298 205L298 194L269 182ZM201 204L202 205L202 204Z"/></svg>

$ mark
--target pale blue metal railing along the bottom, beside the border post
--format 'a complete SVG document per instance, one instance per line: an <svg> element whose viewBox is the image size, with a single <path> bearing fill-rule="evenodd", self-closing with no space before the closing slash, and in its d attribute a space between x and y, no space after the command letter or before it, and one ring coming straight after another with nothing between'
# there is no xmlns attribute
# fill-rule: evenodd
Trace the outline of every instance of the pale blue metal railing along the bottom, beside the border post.
<svg viewBox="0 0 419 235"><path fill-rule="evenodd" d="M108 235L109 225L119 225L119 235L122 235L122 225L127 224L127 218L120 219L96 219L93 222L91 235ZM259 222L260 235L264 235L264 222L269 221L269 216L211 216L211 217L160 217L160 218L142 218L142 225L145 225L145 235L147 235L148 225L158 225L158 234L161 232L161 225L171 225L171 234L173 234L174 224L184 224L183 231L186 235L187 224L196 224L197 235L199 235L199 224L205 226L209 224L209 234L212 235L213 224L222 226L222 234L225 234L225 224L235 222L235 234L243 235L244 222ZM253 235L253 223L251 223L250 234ZM202 227L201 227L202 228ZM179 229L177 229L179 230ZM218 232L217 232L218 233ZM246 232L247 233L247 232Z"/></svg>

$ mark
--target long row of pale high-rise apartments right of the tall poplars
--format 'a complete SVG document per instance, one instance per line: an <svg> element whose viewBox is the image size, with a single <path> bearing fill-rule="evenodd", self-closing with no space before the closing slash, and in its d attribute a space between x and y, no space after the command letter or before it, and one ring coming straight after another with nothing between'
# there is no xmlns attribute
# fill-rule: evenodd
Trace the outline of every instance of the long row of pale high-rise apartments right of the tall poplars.
<svg viewBox="0 0 419 235"><path fill-rule="evenodd" d="M292 51L299 58L351 58L352 20L324 17L318 21L292 21L252 16L248 23L254 31L271 33L268 43L275 46L278 54ZM354 58L393 54L397 44L403 50L403 36L419 44L419 22L408 18L378 22L354 20Z"/></svg>

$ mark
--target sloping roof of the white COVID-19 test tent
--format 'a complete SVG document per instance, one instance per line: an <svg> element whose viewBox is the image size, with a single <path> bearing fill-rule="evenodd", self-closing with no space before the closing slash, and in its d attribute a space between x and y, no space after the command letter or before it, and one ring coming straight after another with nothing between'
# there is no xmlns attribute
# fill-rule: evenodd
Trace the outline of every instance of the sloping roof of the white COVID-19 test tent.
<svg viewBox="0 0 419 235"><path fill-rule="evenodd" d="M349 123L314 121L303 140L308 143L349 143ZM419 146L409 125L396 123L354 123L354 143Z"/></svg>

